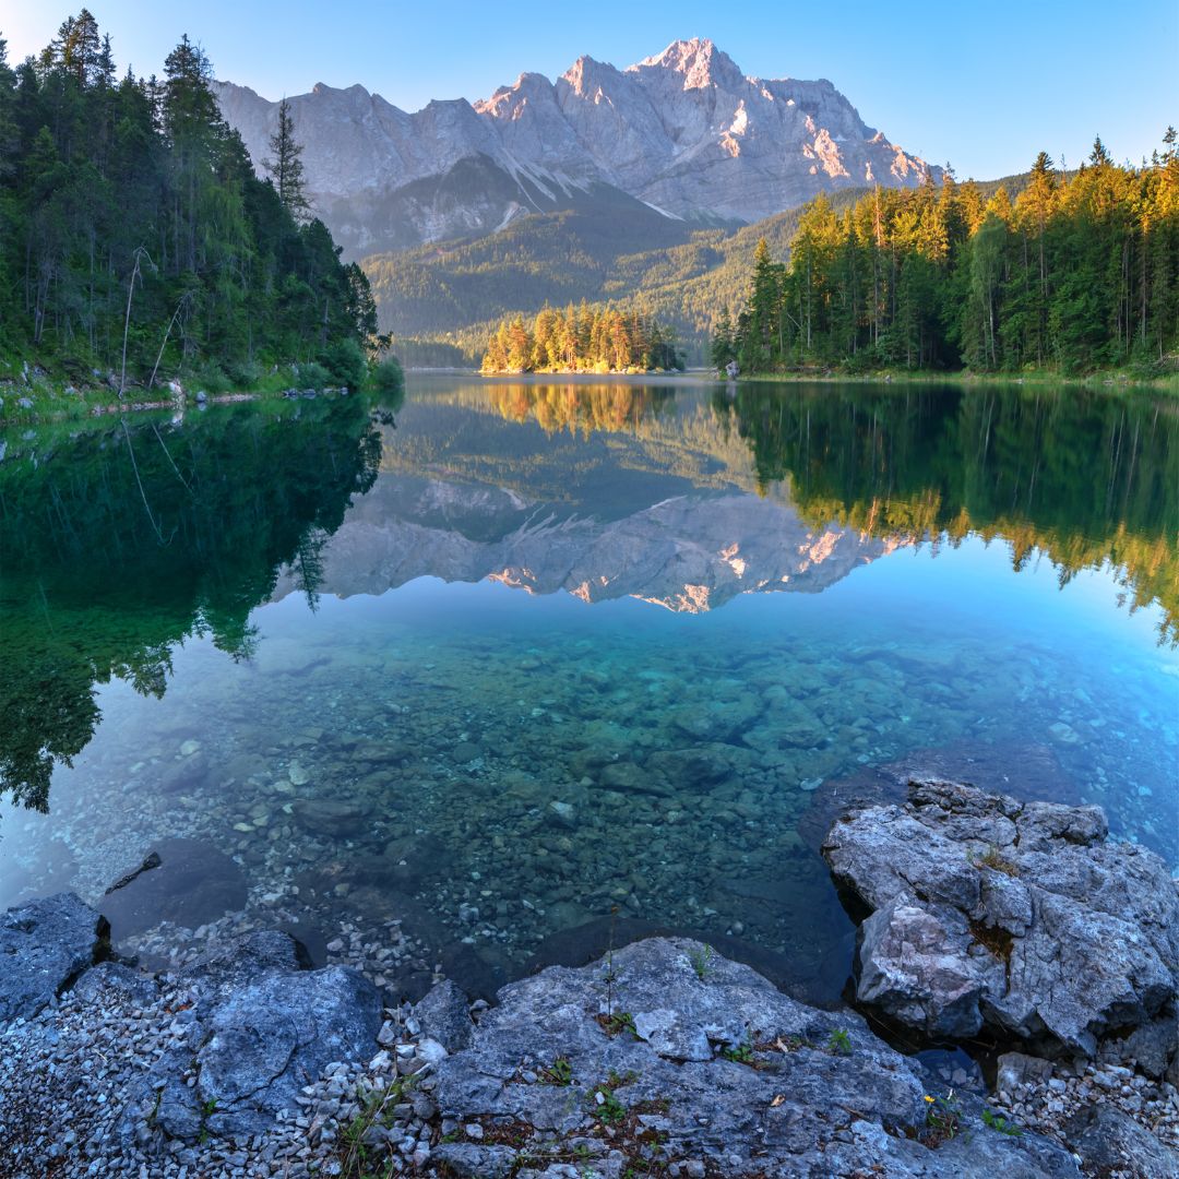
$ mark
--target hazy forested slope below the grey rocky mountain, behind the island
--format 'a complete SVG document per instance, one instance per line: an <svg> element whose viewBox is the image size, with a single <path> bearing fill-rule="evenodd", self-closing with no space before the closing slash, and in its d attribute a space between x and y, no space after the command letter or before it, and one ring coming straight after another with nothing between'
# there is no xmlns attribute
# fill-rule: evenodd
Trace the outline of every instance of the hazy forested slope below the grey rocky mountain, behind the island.
<svg viewBox="0 0 1179 1179"><path fill-rule="evenodd" d="M1015 196L1026 174L979 183ZM864 189L830 195L835 209ZM599 190L577 208L521 217L475 239L456 239L362 261L383 330L409 364L470 364L505 316L545 304L611 299L640 303L674 327L690 364L705 361L723 305L745 299L753 250L765 238L786 258L802 209L752 225L702 228L660 216L639 200Z"/></svg>

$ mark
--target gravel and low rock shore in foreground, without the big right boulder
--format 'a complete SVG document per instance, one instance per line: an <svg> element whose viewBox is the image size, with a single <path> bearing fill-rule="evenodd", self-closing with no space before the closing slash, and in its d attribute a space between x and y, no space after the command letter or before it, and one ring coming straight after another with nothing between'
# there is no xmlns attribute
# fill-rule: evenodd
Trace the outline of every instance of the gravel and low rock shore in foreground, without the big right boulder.
<svg viewBox="0 0 1179 1179"><path fill-rule="evenodd" d="M0 915L0 930L58 900ZM93 937L97 914L77 908ZM575 1161L587 1179L644 1164L661 1170L633 1173L835 1179L870 1159L882 1175L1001 1162L1062 1179L1164 1174L1117 1152L1165 1161L1179 1147L1179 1093L1137 1068L1012 1052L988 1085L976 1063L902 1055L857 1012L810 1008L686 938L549 967L490 1005L446 980L394 1000L362 961L308 969L277 930L147 973L85 941L40 944L68 949L77 974L37 1013L0 1019L5 1174L560 1179ZM291 1022L308 1038L291 1041ZM779 1107L786 1140L771 1128ZM890 1129L895 1118L907 1125ZM1111 1151L1125 1171L1101 1168Z"/></svg>

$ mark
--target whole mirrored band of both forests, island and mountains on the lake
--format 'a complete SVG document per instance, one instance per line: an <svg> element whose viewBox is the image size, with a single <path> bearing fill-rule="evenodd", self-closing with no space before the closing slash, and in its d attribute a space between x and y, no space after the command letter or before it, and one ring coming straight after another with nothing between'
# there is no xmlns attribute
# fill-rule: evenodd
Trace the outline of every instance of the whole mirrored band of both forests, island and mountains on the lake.
<svg viewBox="0 0 1179 1179"><path fill-rule="evenodd" d="M37 809L112 677L233 659L285 594L494 579L679 612L822 591L900 546L1112 569L1179 638L1179 407L1021 388L429 384L0 448L0 786ZM0 443L4 447L4 443Z"/></svg>

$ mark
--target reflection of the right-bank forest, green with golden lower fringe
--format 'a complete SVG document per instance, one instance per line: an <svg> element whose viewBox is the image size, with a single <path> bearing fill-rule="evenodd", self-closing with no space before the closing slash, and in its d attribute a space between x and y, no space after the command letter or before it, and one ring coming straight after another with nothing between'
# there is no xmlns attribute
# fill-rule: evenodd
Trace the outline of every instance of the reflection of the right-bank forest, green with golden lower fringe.
<svg viewBox="0 0 1179 1179"><path fill-rule="evenodd" d="M749 442L759 490L789 481L816 526L1046 553L1066 584L1111 566L1131 608L1179 641L1179 406L1087 390L744 386L713 410Z"/></svg>

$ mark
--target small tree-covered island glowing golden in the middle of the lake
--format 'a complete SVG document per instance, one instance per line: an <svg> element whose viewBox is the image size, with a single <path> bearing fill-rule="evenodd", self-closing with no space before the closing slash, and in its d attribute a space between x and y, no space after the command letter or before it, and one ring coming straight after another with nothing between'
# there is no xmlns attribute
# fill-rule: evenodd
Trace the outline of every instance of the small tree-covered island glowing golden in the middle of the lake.
<svg viewBox="0 0 1179 1179"><path fill-rule="evenodd" d="M683 368L674 338L658 320L637 310L571 303L544 308L531 325L505 320L483 355L482 371L650 373Z"/></svg>

